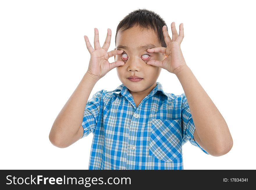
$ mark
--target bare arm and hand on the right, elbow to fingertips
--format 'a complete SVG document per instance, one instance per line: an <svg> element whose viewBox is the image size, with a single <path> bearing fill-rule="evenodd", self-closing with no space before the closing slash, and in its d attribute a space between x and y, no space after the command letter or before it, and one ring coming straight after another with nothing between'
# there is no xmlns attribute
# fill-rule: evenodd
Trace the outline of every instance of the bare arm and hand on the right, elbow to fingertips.
<svg viewBox="0 0 256 190"><path fill-rule="evenodd" d="M162 28L166 47L154 47L147 50L148 52L166 54L166 58L163 61L150 60L147 65L161 67L176 74L184 89L194 121L194 140L212 156L224 155L233 146L227 123L186 65L180 48L184 38L183 23L179 25L179 35L175 28L175 22L172 22L171 29L172 39L168 34L167 27L163 26Z"/></svg>

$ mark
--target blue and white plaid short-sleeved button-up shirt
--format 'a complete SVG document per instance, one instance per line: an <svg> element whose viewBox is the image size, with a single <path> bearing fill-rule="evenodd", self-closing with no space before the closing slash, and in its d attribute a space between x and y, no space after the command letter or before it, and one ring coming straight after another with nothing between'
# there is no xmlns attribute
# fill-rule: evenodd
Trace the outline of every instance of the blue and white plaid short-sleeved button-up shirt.
<svg viewBox="0 0 256 190"><path fill-rule="evenodd" d="M138 107L123 84L96 92L81 125L82 138L93 133L88 169L184 169L187 141L209 154L193 138L185 93L165 93L159 82Z"/></svg>

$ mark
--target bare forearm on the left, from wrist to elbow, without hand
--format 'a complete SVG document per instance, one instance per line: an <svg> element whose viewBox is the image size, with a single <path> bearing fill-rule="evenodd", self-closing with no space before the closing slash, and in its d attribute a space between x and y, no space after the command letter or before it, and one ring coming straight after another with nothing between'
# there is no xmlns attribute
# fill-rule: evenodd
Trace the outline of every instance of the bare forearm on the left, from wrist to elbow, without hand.
<svg viewBox="0 0 256 190"><path fill-rule="evenodd" d="M87 72L77 88L56 117L49 139L59 144L72 144L72 137L78 132L83 121L83 113L90 93L97 83ZM63 143L60 143L63 142Z"/></svg>

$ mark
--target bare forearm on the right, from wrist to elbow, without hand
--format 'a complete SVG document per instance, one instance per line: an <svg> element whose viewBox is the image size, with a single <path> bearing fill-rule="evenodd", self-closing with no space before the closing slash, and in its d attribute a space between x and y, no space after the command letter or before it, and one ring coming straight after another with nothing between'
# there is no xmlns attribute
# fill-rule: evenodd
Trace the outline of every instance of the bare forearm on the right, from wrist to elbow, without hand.
<svg viewBox="0 0 256 190"><path fill-rule="evenodd" d="M186 94L201 145L214 154L228 152L232 147L232 137L227 123L211 101L211 98L197 81L189 67L183 67L176 76Z"/></svg>

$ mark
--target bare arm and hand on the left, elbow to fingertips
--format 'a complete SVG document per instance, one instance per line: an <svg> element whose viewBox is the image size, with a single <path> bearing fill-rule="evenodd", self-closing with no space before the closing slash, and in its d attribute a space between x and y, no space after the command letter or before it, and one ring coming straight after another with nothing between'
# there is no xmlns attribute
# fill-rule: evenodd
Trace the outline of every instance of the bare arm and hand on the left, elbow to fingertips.
<svg viewBox="0 0 256 190"><path fill-rule="evenodd" d="M96 82L113 68L125 64L123 61L115 61L113 63L108 61L110 57L122 54L123 52L123 50L107 51L111 41L111 30L109 28L102 47L99 44L99 31L97 28L94 28L95 49L93 49L87 36L84 36L84 39L90 53L88 70L58 114L49 134L51 143L60 148L68 147L82 138L84 131L83 126L81 126L83 113L88 97Z"/></svg>

